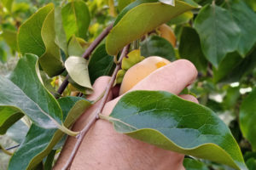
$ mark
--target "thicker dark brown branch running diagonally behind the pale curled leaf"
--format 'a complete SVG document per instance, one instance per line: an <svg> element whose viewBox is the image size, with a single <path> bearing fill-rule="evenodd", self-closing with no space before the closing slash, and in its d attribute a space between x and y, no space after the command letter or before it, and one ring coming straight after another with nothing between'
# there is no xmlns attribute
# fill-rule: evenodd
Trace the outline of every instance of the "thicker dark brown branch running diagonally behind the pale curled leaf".
<svg viewBox="0 0 256 170"><path fill-rule="evenodd" d="M108 26L104 31L102 31L102 33L96 37L96 39L90 44L89 48L87 48L84 52L84 54L82 55L82 57L84 59L87 59L90 54L93 52L93 50L100 44L100 42L102 42L102 40L108 35L109 31L111 31L113 27L113 24L111 24L110 26ZM65 90L65 88L67 88L67 84L68 84L68 78L69 76L67 75L67 77L65 78L65 80L62 82L61 87L58 89L58 94L62 94Z"/></svg>

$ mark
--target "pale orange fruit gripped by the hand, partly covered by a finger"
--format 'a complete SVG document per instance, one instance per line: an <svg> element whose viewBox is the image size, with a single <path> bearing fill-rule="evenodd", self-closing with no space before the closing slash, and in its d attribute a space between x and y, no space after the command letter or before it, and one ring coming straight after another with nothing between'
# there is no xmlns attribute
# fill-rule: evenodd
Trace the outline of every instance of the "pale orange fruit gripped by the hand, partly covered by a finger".
<svg viewBox="0 0 256 170"><path fill-rule="evenodd" d="M125 73L125 77L120 87L119 95L125 94L131 88L133 88L138 82L142 81L143 78L148 77L150 73L159 69L164 65L168 65L171 61L152 56L143 61L137 63L137 65L133 65L128 71Z"/></svg>

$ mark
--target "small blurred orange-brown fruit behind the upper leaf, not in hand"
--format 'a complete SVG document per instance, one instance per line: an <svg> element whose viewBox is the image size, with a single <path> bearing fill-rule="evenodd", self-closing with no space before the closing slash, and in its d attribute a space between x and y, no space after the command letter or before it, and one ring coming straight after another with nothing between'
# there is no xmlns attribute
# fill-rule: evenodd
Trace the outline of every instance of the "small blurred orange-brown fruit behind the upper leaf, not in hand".
<svg viewBox="0 0 256 170"><path fill-rule="evenodd" d="M166 24L161 25L158 30L160 31L160 37L165 38L168 42L172 43L172 46L176 46L176 37L170 26Z"/></svg>

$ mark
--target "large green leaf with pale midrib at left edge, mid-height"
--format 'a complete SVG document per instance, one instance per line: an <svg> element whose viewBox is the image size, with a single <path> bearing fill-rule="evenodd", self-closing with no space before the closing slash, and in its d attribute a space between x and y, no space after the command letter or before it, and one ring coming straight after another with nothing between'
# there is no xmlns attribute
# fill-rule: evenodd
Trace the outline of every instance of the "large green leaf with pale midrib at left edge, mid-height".
<svg viewBox="0 0 256 170"><path fill-rule="evenodd" d="M26 54L10 80L0 77L0 105L20 110L39 127L55 128L61 124L61 108L40 82L37 66L38 57Z"/></svg>

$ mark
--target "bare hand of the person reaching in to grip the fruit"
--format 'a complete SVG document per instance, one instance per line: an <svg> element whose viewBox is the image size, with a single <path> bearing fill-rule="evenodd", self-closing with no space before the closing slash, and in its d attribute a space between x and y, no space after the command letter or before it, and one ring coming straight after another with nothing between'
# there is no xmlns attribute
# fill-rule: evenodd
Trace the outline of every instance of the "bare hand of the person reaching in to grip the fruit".
<svg viewBox="0 0 256 170"><path fill-rule="evenodd" d="M179 59L152 72L148 77L138 82L132 90L161 90L179 94L183 88L194 82L197 77L195 66L186 59ZM95 93L88 99L94 100L101 95L108 85L110 77L99 77L93 85ZM112 99L109 94L108 103L102 114L109 115L121 96ZM183 99L198 103L194 96L183 94ZM100 101L79 117L73 131L80 131L90 120L91 113L96 111ZM69 137L61 150L61 155L55 163L55 170L61 169L70 156L76 139ZM79 148L71 166L72 170L106 169L106 170L183 170L183 155L169 150L160 149L154 145L132 139L125 134L117 133L113 125L105 120L98 120Z"/></svg>

